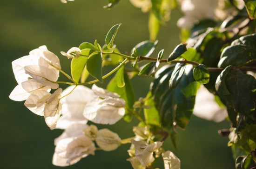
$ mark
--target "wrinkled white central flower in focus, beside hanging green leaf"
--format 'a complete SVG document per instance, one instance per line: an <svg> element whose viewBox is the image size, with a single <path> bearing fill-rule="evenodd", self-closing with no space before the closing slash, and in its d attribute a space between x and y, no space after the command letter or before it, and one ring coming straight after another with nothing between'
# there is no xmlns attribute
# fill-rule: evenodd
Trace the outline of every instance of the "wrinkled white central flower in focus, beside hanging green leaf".
<svg viewBox="0 0 256 169"><path fill-rule="evenodd" d="M118 94L103 88L93 86L93 91L99 97L87 103L83 115L86 119L98 124L115 124L125 113L125 100Z"/></svg>

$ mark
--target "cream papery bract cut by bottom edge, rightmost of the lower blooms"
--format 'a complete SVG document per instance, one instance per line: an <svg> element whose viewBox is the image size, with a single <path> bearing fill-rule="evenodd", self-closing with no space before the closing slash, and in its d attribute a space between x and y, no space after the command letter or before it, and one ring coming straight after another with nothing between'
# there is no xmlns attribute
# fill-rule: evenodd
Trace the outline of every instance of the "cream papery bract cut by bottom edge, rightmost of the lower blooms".
<svg viewBox="0 0 256 169"><path fill-rule="evenodd" d="M181 169L181 161L171 151L162 154L164 169Z"/></svg>

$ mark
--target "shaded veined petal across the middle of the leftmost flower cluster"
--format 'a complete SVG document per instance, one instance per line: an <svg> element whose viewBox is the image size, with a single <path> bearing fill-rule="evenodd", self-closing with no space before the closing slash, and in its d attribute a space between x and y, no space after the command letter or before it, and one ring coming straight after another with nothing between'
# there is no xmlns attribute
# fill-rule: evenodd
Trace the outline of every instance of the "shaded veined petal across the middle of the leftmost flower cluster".
<svg viewBox="0 0 256 169"><path fill-rule="evenodd" d="M53 89L59 87L59 84L51 82L58 80L58 75L54 70L40 65L29 65L25 66L24 69L27 74L31 75L39 83L51 86Z"/></svg>

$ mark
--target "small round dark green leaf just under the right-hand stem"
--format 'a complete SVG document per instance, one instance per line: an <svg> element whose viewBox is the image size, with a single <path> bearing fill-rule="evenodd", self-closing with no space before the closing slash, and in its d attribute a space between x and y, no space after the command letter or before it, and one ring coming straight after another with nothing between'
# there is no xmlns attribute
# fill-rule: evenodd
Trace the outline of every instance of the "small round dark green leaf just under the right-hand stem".
<svg viewBox="0 0 256 169"><path fill-rule="evenodd" d="M203 64L199 64L196 66L193 70L193 76L196 81L198 81L201 84L206 84L209 82L210 74L207 67Z"/></svg>

